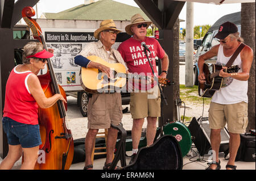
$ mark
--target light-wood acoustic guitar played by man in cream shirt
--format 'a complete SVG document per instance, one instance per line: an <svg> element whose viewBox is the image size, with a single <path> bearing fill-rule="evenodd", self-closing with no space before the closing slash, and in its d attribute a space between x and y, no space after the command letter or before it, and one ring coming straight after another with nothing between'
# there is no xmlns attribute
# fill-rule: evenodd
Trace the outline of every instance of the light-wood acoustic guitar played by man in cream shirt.
<svg viewBox="0 0 256 181"><path fill-rule="evenodd" d="M114 92L117 90L121 91L123 87L126 86L126 82L129 78L147 79L146 76L126 74L125 66L122 64L110 64L97 56L88 56L86 58L90 61L108 66L112 74L112 76L110 76L111 78L108 78L100 69L81 67L80 82L82 89L91 94ZM166 78L158 78L158 82L162 86L171 85L171 82Z"/></svg>

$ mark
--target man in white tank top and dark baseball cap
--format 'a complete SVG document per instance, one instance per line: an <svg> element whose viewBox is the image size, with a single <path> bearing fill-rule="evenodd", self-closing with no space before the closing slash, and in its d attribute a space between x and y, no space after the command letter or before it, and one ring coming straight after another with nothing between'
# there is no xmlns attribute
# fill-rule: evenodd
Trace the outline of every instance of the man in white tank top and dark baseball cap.
<svg viewBox="0 0 256 181"><path fill-rule="evenodd" d="M230 22L221 24L217 39L220 44L212 47L207 53L199 57L199 82L205 83L205 74L203 65L205 60L217 56L216 64L225 66L229 58L234 54L236 49L243 42L239 36L237 26ZM218 150L221 142L221 129L228 125L229 131L229 161L226 165L227 170L236 170L234 165L237 150L240 146L240 133L246 132L248 124L247 118L247 80L250 77L251 63L253 62L253 50L245 45L238 54L233 65L239 65L240 71L236 74L225 73L223 69L220 71L220 77L228 78L228 85L216 91L212 97L209 108L209 124L210 124L210 143L212 150L216 153L216 160L210 163L207 170L220 170L220 160L218 159ZM213 152L214 153L214 152ZM214 157L213 157L214 158Z"/></svg>

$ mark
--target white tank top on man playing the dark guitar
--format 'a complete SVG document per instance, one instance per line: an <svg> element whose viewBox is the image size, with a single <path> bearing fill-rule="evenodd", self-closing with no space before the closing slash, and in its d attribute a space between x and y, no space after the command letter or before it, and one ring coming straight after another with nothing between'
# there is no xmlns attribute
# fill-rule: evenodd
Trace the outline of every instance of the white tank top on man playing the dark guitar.
<svg viewBox="0 0 256 181"><path fill-rule="evenodd" d="M220 45L218 48L218 56L217 56L217 65L226 65L228 63L230 57L226 57L223 53L223 46ZM241 55L238 54L237 58L234 60L233 65L239 65L240 70L238 72L242 72L242 61ZM220 90L215 91L212 96L212 102L218 104L235 104L239 102L248 103L247 89L248 82L247 81L238 81L237 79L228 78L226 82L227 86L222 87Z"/></svg>

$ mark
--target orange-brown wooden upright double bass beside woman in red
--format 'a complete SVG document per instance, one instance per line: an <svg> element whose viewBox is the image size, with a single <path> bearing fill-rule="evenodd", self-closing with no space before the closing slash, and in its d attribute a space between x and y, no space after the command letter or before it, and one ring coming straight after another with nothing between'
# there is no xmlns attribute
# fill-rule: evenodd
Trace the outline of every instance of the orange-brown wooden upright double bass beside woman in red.
<svg viewBox="0 0 256 181"><path fill-rule="evenodd" d="M38 39L47 49L41 28L31 17L35 15L32 7L24 7L22 18L31 29L34 39ZM65 91L57 84L52 62L47 60L47 73L38 75L46 97L61 94L67 100ZM69 169L73 161L74 143L71 130L66 124L67 103L58 100L52 107L38 109L38 121L42 145L39 146L39 159L35 169Z"/></svg>

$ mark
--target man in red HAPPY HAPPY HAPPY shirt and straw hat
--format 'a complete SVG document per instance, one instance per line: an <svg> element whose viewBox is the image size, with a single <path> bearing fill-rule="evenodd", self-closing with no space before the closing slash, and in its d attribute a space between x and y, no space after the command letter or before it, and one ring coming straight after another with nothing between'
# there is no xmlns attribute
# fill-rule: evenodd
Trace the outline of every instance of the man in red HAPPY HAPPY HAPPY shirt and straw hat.
<svg viewBox="0 0 256 181"><path fill-rule="evenodd" d="M133 35L130 39L123 41L119 45L118 51L125 60L130 73L138 73L139 75L153 76L150 64L144 53L144 42L150 52L147 55L150 59L154 73L158 77L155 59L158 57L162 60L162 73L159 77L166 78L169 59L159 42L154 38L147 37L147 28L151 21L145 20L141 14L135 14L131 17L131 22L125 27L125 31L129 35ZM141 138L142 125L144 118L147 117L147 145L152 145L156 133L156 121L160 116L160 91L156 82L143 85L143 83L134 84L138 87L138 91L131 92L130 96L130 112L133 117L133 128L131 136L133 140L133 154L130 163L134 161L134 157L138 151L139 140ZM153 93L152 93L153 92ZM151 96L154 94L154 96Z"/></svg>

